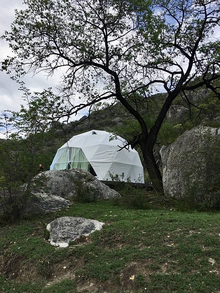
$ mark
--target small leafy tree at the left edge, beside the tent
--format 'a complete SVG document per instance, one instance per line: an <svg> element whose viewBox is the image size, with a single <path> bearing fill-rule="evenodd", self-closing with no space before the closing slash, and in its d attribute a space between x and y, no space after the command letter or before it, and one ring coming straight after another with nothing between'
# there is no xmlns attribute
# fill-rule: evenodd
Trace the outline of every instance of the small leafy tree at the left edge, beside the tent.
<svg viewBox="0 0 220 293"><path fill-rule="evenodd" d="M19 112L8 111L1 123L7 139L0 142L0 205L11 221L22 217L31 196L32 179L38 172L39 152L50 135L54 116L60 116L64 110L62 101L54 98L50 89L31 96L21 84L27 106L22 105Z"/></svg>

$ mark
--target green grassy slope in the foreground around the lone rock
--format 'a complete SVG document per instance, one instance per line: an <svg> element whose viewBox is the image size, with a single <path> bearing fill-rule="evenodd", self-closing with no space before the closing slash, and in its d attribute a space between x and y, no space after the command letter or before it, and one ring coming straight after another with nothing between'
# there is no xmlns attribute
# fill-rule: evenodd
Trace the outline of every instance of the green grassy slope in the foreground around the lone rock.
<svg viewBox="0 0 220 293"><path fill-rule="evenodd" d="M82 216L106 225L82 246L57 249L45 242L44 231L46 224L60 216ZM77 286L93 283L94 293L99 286L112 293L218 293L219 227L218 212L77 203L57 213L1 227L0 256L5 266L8 260L14 267L2 272L0 292L74 293ZM210 259L216 262L212 264ZM36 278L13 278L13 270L19 271L16 262L34 268ZM70 275L65 276L64 266ZM51 281L55 272L56 283ZM129 279L132 275L134 280Z"/></svg>

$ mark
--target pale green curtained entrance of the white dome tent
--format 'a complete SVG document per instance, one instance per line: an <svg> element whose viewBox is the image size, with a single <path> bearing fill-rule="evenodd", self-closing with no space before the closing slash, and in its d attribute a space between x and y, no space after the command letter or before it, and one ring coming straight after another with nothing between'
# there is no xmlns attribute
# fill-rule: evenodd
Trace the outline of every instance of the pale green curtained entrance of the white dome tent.
<svg viewBox="0 0 220 293"><path fill-rule="evenodd" d="M93 167L89 164L87 157L85 156L82 148L79 147L65 147L57 151L57 155L54 158L55 163L53 170L63 169L83 169L90 172L93 176L96 173Z"/></svg>

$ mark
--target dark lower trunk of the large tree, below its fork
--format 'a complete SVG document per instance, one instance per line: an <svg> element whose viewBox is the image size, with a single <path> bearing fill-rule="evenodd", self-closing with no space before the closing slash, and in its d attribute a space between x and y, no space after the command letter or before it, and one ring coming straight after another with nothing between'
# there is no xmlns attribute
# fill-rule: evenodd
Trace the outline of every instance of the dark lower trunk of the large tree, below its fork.
<svg viewBox="0 0 220 293"><path fill-rule="evenodd" d="M146 169L148 171L150 180L152 181L152 185L157 192L163 193L162 176L158 166L156 165L153 149L145 145L141 147L141 150L144 157Z"/></svg>

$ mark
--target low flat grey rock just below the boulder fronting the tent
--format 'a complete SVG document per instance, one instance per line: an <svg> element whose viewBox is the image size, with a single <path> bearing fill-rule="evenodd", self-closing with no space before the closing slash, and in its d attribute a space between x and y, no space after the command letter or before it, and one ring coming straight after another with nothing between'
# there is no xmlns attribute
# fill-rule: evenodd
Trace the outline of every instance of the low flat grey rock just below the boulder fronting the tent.
<svg viewBox="0 0 220 293"><path fill-rule="evenodd" d="M48 194L45 192L36 192L28 200L25 213L39 213L56 211L71 205L70 201L63 197Z"/></svg>

